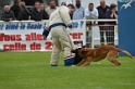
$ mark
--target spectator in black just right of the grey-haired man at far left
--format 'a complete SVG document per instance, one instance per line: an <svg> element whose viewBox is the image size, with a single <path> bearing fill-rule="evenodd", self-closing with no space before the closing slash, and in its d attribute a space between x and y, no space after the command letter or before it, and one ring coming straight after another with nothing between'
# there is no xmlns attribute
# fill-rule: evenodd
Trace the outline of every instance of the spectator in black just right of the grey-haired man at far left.
<svg viewBox="0 0 135 89"><path fill-rule="evenodd" d="M21 2L21 0L14 0L14 4L11 7L11 11L14 12L15 18L17 18L19 12L21 11L20 2Z"/></svg>

